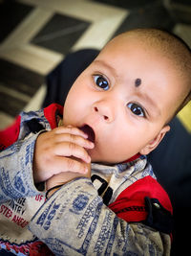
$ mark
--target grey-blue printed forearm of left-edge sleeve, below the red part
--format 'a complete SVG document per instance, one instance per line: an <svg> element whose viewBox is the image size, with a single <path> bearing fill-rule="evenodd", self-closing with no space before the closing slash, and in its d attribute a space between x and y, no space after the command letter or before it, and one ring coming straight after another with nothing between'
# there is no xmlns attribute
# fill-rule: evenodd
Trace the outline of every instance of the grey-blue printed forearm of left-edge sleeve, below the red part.
<svg viewBox="0 0 191 256"><path fill-rule="evenodd" d="M39 194L32 176L32 158L37 134L29 134L0 152L0 202Z"/></svg>

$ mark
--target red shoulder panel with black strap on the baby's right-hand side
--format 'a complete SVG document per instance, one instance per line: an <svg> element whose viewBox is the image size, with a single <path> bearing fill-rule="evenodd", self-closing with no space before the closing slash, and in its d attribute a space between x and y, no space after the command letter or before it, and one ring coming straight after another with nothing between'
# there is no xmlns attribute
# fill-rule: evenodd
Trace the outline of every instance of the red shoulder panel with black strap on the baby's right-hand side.
<svg viewBox="0 0 191 256"><path fill-rule="evenodd" d="M123 190L109 207L124 221L141 221L163 233L172 232L170 198L151 175L139 178Z"/></svg>

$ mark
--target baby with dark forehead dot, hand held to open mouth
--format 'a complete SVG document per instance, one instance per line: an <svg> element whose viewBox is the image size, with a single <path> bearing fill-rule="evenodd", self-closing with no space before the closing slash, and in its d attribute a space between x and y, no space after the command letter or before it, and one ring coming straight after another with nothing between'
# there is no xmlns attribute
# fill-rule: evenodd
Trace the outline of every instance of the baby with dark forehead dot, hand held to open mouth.
<svg viewBox="0 0 191 256"><path fill-rule="evenodd" d="M74 81L63 120L60 105L23 113L11 128L19 135L1 139L4 148L16 141L1 152L12 186L1 183L1 201L36 196L32 180L46 181L49 199L28 222L55 255L169 255L172 207L145 155L190 100L190 69L173 35L115 37Z"/></svg>

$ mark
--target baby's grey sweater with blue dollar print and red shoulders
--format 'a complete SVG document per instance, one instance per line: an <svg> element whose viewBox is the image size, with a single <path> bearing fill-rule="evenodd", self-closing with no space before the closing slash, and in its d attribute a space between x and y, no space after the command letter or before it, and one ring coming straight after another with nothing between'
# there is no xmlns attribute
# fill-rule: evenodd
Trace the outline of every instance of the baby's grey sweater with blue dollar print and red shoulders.
<svg viewBox="0 0 191 256"><path fill-rule="evenodd" d="M76 178L51 198L33 182L39 132L57 126L60 105L22 112L0 132L0 253L170 255L172 206L145 156ZM49 246L49 249L47 247Z"/></svg>

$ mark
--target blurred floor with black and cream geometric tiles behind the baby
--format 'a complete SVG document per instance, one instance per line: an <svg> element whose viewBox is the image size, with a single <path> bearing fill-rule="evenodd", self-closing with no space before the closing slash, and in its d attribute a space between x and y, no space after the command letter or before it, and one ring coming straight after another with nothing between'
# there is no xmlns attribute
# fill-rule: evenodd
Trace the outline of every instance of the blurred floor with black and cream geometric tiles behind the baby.
<svg viewBox="0 0 191 256"><path fill-rule="evenodd" d="M101 49L114 35L138 27L174 32L191 46L189 3L189 0L1 0L0 128L10 124L22 109L40 107L46 93L46 75L70 51ZM180 118L191 130L190 111L191 105Z"/></svg>

